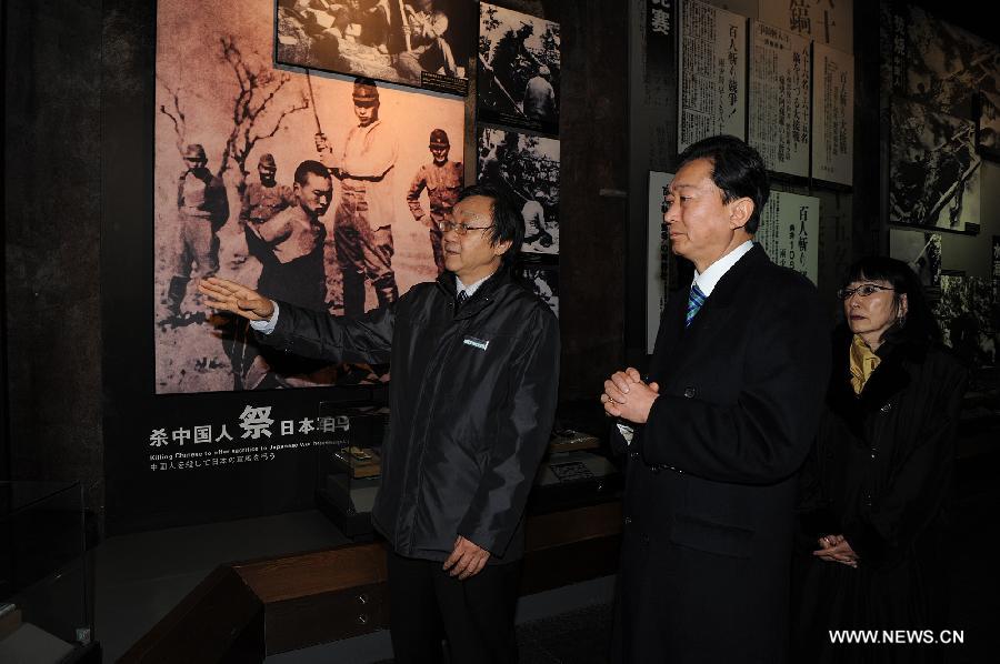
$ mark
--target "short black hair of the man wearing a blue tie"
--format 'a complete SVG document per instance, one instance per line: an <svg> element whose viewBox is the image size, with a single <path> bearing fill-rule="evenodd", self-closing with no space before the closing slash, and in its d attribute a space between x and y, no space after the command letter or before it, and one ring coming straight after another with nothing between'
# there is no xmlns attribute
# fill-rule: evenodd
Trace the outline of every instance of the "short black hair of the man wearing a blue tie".
<svg viewBox="0 0 1000 664"><path fill-rule="evenodd" d="M753 201L753 214L743 228L751 235L756 233L760 225L760 213L771 193L768 169L760 152L733 135L709 137L688 145L681 152L677 170L696 159L712 162L712 182L722 190L723 203L742 198Z"/></svg>

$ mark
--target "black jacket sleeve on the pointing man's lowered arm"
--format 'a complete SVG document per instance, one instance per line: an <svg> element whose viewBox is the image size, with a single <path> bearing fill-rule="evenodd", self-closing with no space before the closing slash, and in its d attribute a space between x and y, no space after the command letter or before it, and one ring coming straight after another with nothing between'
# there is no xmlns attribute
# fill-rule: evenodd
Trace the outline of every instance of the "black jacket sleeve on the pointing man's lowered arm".
<svg viewBox="0 0 1000 664"><path fill-rule="evenodd" d="M503 423L458 532L502 556L524 512L538 464L549 444L559 388L559 328L539 310L537 333L512 369Z"/></svg>

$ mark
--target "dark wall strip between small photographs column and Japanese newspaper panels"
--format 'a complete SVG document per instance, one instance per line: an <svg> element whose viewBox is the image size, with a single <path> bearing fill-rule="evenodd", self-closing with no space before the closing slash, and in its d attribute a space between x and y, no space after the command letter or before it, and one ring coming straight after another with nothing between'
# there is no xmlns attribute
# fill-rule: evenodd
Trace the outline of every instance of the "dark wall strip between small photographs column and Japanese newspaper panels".
<svg viewBox="0 0 1000 664"><path fill-rule="evenodd" d="M628 237L626 3L563 0L560 398L592 399L623 361ZM596 403L596 402L594 402Z"/></svg>

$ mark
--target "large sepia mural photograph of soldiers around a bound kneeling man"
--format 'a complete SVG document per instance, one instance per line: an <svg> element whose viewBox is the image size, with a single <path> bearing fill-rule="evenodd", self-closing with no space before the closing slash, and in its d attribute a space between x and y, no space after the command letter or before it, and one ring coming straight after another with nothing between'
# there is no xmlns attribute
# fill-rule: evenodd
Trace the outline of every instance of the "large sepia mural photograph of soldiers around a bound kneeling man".
<svg viewBox="0 0 1000 664"><path fill-rule="evenodd" d="M460 99L273 64L276 7L161 0L157 44L157 393L384 381L259 348L197 280L358 314L437 278L434 225L462 183Z"/></svg>

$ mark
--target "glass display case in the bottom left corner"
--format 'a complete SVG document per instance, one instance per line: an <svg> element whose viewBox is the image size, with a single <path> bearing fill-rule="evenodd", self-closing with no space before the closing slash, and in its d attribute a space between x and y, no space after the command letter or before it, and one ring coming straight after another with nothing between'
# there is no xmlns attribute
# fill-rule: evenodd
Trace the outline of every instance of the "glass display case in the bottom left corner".
<svg viewBox="0 0 1000 664"><path fill-rule="evenodd" d="M100 662L78 482L0 482L0 662Z"/></svg>

